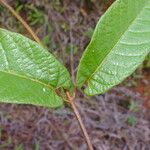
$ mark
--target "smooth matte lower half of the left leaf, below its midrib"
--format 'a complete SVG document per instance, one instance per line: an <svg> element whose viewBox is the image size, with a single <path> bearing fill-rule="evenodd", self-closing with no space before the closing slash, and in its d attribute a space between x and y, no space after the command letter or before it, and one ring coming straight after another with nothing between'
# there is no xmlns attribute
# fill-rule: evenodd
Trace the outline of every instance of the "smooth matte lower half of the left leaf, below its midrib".
<svg viewBox="0 0 150 150"><path fill-rule="evenodd" d="M55 91L33 80L0 71L0 102L32 104L51 108L60 107L63 101Z"/></svg>

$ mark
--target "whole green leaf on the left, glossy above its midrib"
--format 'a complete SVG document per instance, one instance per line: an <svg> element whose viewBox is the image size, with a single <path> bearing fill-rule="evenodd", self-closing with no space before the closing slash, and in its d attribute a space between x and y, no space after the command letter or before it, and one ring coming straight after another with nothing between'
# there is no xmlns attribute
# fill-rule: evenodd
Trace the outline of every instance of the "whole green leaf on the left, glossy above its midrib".
<svg viewBox="0 0 150 150"><path fill-rule="evenodd" d="M58 88L69 89L66 68L36 42L0 29L0 102L58 107Z"/></svg>

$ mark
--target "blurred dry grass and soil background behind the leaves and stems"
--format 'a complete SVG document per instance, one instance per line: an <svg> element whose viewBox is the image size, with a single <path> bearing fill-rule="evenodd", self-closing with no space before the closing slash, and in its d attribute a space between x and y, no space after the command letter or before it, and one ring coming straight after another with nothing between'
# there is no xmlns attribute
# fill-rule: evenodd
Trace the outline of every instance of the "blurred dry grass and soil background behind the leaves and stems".
<svg viewBox="0 0 150 150"><path fill-rule="evenodd" d="M96 22L114 0L7 0L74 74ZM0 27L32 37L0 5ZM95 150L150 150L150 56L122 84L76 104ZM87 150L73 112L0 104L0 150Z"/></svg>

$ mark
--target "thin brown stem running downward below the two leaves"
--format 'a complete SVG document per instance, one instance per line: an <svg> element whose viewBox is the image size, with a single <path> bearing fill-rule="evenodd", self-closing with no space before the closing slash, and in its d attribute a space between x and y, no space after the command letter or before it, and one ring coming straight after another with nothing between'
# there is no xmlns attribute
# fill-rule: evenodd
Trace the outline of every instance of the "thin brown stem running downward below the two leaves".
<svg viewBox="0 0 150 150"><path fill-rule="evenodd" d="M81 116L80 116L80 114L78 112L78 109L77 109L77 107L76 107L76 105L74 103L74 97L70 96L69 92L66 92L66 94L67 94L68 100L70 101L70 104L71 104L71 107L73 109L73 112L74 112L74 114L75 114L75 116L76 116L76 118L78 120L80 128L81 128L81 130L83 132L83 135L84 135L84 137L86 139L86 142L87 142L87 145L88 145L88 149L89 150L94 150L93 146L92 146L92 143L91 143L91 140L90 140L90 137L89 137L89 135L87 133L87 130L86 130L85 126L84 126L84 123L83 123L83 121L81 119Z"/></svg>

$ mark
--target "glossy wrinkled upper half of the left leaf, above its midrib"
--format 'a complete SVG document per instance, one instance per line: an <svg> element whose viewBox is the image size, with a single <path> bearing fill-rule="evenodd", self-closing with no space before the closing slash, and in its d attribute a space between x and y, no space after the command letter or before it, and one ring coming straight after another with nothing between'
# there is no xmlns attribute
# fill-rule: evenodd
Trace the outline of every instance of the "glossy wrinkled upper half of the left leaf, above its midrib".
<svg viewBox="0 0 150 150"><path fill-rule="evenodd" d="M0 37L0 50L4 51L1 57L7 57L3 69L37 78L54 88L71 86L66 68L36 42L4 29L0 29Z"/></svg>

